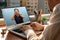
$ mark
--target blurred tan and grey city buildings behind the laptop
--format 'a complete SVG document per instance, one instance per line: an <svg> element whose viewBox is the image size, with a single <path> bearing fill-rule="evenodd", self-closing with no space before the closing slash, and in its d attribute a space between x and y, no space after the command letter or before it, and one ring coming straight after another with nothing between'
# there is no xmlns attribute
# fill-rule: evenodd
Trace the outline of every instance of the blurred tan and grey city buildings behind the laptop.
<svg viewBox="0 0 60 40"><path fill-rule="evenodd" d="M0 18L2 18L2 8L25 6L29 15L34 15L34 10L43 10L43 14L50 13L46 0L0 0Z"/></svg>

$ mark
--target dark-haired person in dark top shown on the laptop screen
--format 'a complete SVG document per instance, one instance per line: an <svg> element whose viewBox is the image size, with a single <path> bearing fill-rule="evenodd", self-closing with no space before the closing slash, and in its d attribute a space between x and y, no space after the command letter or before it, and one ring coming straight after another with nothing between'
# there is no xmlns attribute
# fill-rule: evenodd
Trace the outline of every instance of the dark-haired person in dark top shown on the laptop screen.
<svg viewBox="0 0 60 40"><path fill-rule="evenodd" d="M23 23L23 18L25 18L22 14L19 13L18 9L14 9L14 15L11 20L15 20L16 24Z"/></svg>

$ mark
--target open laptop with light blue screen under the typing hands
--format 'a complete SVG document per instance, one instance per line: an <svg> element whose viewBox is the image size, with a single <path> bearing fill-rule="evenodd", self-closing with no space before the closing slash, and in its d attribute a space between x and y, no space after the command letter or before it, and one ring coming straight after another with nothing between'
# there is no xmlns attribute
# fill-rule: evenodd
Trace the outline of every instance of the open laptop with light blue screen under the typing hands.
<svg viewBox="0 0 60 40"><path fill-rule="evenodd" d="M19 13L24 16L23 22L19 23L19 24L29 25L31 23L31 21L29 19L29 15L28 15L27 10L26 10L25 7L5 8L5 9L2 9L2 14L3 14L3 17L5 19L7 27L11 26L11 25L17 24L16 20L11 20L11 17L14 15L14 9L18 9ZM17 27L14 27L13 29L10 29L9 32L11 32L11 33L13 33L15 35L18 35L20 37L27 38L27 36L24 33L22 33L21 31L19 31L19 29L21 27L22 27L21 25L17 26ZM40 33L40 31L35 31L35 33L36 34Z"/></svg>

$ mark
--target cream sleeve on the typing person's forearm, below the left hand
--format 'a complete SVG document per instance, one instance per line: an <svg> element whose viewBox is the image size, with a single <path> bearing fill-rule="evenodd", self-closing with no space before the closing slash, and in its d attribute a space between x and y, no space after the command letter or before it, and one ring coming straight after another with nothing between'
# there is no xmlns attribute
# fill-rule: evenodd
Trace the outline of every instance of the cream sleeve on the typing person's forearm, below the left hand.
<svg viewBox="0 0 60 40"><path fill-rule="evenodd" d="M27 40L40 40L39 37L31 29L26 30L25 34L27 35Z"/></svg>

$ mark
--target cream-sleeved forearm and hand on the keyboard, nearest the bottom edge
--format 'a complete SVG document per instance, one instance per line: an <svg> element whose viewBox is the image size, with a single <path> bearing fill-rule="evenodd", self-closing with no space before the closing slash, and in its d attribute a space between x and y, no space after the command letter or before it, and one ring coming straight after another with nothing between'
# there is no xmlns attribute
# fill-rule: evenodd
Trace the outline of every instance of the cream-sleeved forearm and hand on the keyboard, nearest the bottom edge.
<svg viewBox="0 0 60 40"><path fill-rule="evenodd" d="M27 40L39 40L38 36L35 34L30 25L22 26L20 31L25 33L25 35L27 36Z"/></svg>

